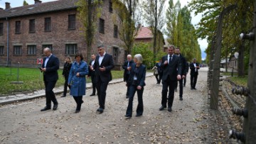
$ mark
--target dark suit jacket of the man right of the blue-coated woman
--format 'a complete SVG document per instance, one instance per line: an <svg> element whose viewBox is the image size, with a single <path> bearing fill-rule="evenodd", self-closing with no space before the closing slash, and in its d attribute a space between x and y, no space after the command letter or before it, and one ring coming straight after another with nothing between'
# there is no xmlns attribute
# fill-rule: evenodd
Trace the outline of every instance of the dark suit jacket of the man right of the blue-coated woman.
<svg viewBox="0 0 256 144"><path fill-rule="evenodd" d="M106 53L101 65L99 63L99 57L99 55L96 56L95 64L93 65L93 68L95 69L95 82L98 82L99 79L101 79L102 82L110 82L112 80L110 70L114 68L113 57L112 55ZM100 67L105 67L105 71L100 71Z"/></svg>

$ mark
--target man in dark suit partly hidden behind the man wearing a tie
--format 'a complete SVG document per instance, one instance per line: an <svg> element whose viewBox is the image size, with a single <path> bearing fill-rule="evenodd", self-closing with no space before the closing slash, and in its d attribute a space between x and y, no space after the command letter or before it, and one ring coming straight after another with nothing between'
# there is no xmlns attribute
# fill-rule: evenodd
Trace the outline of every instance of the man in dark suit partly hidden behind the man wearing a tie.
<svg viewBox="0 0 256 144"><path fill-rule="evenodd" d="M179 84L179 100L183 100L183 79L186 78L186 71L188 71L188 67L187 67L187 62L186 62L186 58L183 57L183 55L181 55L181 51L179 48L175 49L175 54L178 55L178 57L180 57L181 60L181 74L182 74L182 79L178 80L177 85L176 85L176 89L178 87Z"/></svg>

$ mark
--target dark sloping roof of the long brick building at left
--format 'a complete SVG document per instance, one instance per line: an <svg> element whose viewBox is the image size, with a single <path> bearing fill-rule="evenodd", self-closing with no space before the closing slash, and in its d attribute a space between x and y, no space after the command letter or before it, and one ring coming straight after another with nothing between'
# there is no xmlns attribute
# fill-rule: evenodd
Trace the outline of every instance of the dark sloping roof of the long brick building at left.
<svg viewBox="0 0 256 144"><path fill-rule="evenodd" d="M36 13L46 13L50 11L63 11L66 9L76 9L75 3L78 0L58 0L46 3L31 4L11 9L0 9L0 18L11 18L16 16L26 16Z"/></svg>

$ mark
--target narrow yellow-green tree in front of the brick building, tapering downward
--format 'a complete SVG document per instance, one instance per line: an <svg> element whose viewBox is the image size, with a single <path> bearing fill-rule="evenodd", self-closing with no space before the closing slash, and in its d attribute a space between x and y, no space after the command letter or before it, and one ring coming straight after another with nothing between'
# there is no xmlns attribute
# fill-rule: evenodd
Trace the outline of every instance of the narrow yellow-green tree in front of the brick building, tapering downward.
<svg viewBox="0 0 256 144"><path fill-rule="evenodd" d="M82 23L82 35L85 36L85 41L87 45L87 60L90 59L92 51L92 43L97 30L96 22L101 16L102 1L93 0L79 0L78 5L78 18Z"/></svg>

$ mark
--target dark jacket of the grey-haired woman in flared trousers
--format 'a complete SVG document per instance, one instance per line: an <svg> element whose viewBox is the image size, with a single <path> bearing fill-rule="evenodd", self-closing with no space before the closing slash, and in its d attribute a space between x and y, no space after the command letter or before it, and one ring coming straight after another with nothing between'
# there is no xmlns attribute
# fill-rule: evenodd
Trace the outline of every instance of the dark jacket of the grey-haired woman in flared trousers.
<svg viewBox="0 0 256 144"><path fill-rule="evenodd" d="M134 74L135 74L135 68L136 68L136 63L132 64L132 69L131 73L129 74L129 79L127 82L127 86L132 85L134 81ZM137 81L135 83L136 86L144 87L145 84L145 78L146 78L146 66L145 65L140 65L137 67Z"/></svg>

